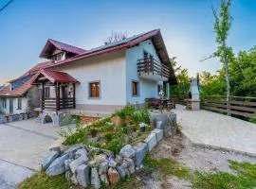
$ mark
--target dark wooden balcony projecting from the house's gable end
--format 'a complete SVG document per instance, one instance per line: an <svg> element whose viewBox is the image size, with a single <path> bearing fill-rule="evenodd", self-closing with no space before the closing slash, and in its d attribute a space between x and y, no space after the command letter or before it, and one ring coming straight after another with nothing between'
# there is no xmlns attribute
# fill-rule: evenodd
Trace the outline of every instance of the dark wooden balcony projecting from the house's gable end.
<svg viewBox="0 0 256 189"><path fill-rule="evenodd" d="M170 77L170 69L167 65L157 60L148 58L137 60L138 77L151 79L155 81L167 81Z"/></svg>

